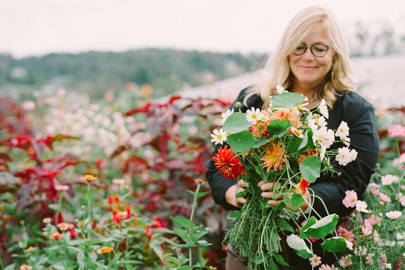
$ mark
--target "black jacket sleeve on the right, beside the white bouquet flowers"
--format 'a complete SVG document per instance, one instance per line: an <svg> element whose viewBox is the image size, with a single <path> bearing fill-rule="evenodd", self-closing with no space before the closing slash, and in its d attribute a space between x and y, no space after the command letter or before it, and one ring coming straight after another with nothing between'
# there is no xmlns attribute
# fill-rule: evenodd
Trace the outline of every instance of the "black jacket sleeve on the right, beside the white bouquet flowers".
<svg viewBox="0 0 405 270"><path fill-rule="evenodd" d="M346 166L339 165L334 159L332 161L334 169L341 175L323 176L323 178L321 176L310 188L323 200L329 214L337 213L342 217L353 210L353 208L347 209L342 203L346 190L356 191L359 200L364 198L365 190L377 164L379 139L374 108L369 102L356 94L354 99L345 99L340 109L340 120L345 121L349 126L351 140L349 148L357 151L357 159ZM339 126L340 122L337 124ZM313 208L321 216L327 215L325 207L317 198L313 201Z"/></svg>

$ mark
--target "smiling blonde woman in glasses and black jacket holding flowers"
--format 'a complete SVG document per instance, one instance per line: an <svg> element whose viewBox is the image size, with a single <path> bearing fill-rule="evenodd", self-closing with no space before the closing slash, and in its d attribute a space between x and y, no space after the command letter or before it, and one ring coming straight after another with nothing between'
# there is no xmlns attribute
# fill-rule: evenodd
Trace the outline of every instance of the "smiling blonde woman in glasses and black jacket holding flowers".
<svg viewBox="0 0 405 270"><path fill-rule="evenodd" d="M323 200L330 213L337 213L340 217L349 214L350 210L342 204L345 191L354 190L360 200L363 198L370 176L375 171L379 141L373 106L353 92L356 84L350 67L347 42L329 10L310 7L299 12L269 57L260 84L242 90L231 108L236 110L236 102L242 102L242 112L252 106L266 108L269 96L277 94L277 84L290 92L307 96L309 109L316 108L320 100L325 99L329 108L329 129L336 130L341 121L348 124L350 148L358 152L357 159L345 167L334 162L335 170L341 174L334 177L321 175L311 185L311 189ZM334 143L332 149L339 146L343 145ZM215 152L217 149L216 147ZM206 176L217 204L232 210L240 208L245 202L244 198L235 198L237 185L218 172L213 160ZM264 191L262 196L268 198L271 205L277 205L278 202L272 200L271 193L266 192L271 185L259 183ZM308 201L309 197L305 199ZM327 215L319 200L315 199L310 204L320 215ZM308 207L308 204L304 204L302 210L309 212ZM322 263L336 261L332 253L323 254L320 249L317 251L316 245L319 246L319 241L314 243L314 251L322 258ZM283 256L289 261L290 269L311 268L308 260L298 257L287 246L284 248L287 250ZM227 269L246 268L243 261L235 260L236 254L231 248L229 251Z"/></svg>

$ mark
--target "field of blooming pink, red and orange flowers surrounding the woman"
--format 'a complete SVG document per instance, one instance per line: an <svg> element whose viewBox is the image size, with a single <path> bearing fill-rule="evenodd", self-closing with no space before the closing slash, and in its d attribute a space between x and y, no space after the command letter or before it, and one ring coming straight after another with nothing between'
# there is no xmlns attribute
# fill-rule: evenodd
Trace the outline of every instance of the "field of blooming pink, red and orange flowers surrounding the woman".
<svg viewBox="0 0 405 270"><path fill-rule="evenodd" d="M1 269L221 269L231 220L203 180L228 102L123 90L87 103L0 100ZM353 250L315 269L401 269L405 109L377 111L380 157L365 200L346 191ZM294 228L295 230L299 229ZM299 231L299 230L298 230ZM318 241L311 239L311 241Z"/></svg>

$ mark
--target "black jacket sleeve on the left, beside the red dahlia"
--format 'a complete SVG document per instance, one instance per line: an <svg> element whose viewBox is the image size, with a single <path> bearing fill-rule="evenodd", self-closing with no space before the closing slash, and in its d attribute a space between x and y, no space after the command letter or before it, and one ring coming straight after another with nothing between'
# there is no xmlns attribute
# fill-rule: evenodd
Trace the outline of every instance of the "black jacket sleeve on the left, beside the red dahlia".
<svg viewBox="0 0 405 270"><path fill-rule="evenodd" d="M235 101L233 101L232 105L230 106L230 109L233 109L234 111L237 111L238 109L235 106L236 102L241 102L243 103L244 98L246 96L246 91L248 88L240 91L238 97L235 99ZM242 105L241 107L241 111L246 110L246 108L244 108L244 106ZM227 145L226 143L224 143L222 146ZM215 156L215 154L218 151L220 145L215 145L214 148L214 153L213 153L213 157ZM225 202L225 192L226 190L228 190L228 188L232 185L235 184L235 181L229 178L225 178L221 172L219 172L217 170L217 168L215 168L214 165L214 159L210 160L210 163L208 165L208 169L206 171L206 177L208 180L208 183L210 184L211 190L212 190L212 197L214 198L215 203L223 206L225 209L227 210L236 210L238 208L228 204Z"/></svg>

